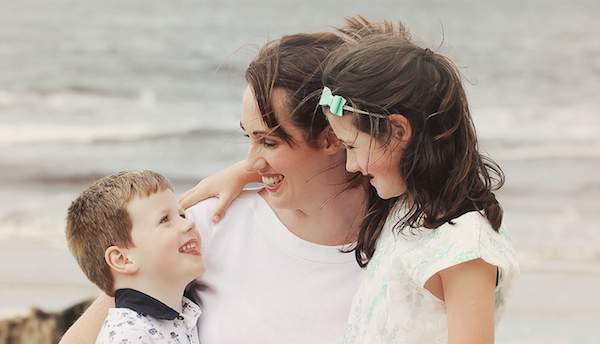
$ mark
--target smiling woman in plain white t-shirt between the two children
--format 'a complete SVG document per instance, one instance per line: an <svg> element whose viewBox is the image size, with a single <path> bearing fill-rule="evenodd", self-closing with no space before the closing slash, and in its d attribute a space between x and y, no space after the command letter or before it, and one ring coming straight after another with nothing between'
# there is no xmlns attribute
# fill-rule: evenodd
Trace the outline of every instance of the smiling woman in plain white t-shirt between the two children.
<svg viewBox="0 0 600 344"><path fill-rule="evenodd" d="M215 199L188 211L207 266L193 286L203 344L343 338L360 268L341 251L355 241L367 196L318 106L320 65L340 44L331 33L286 36L246 72L245 168L265 188L242 193L218 224L209 220ZM61 343L91 343L111 302L101 296Z"/></svg>

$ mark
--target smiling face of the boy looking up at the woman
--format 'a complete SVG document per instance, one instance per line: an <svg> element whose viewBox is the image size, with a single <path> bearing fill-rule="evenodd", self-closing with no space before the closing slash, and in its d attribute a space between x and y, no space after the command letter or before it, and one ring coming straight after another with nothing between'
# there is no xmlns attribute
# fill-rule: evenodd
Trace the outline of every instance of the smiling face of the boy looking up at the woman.
<svg viewBox="0 0 600 344"><path fill-rule="evenodd" d="M173 191L134 197L127 206L133 222L129 249L138 274L151 283L188 284L204 273L200 233L187 220Z"/></svg>

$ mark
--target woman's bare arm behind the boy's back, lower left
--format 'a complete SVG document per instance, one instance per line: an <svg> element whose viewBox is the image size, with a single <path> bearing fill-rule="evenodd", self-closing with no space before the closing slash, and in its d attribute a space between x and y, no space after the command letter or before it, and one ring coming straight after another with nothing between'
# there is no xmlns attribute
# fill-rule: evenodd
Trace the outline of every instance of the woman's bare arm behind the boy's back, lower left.
<svg viewBox="0 0 600 344"><path fill-rule="evenodd" d="M114 306L114 298L106 294L100 295L67 330L59 344L94 344L108 315L108 309Z"/></svg>

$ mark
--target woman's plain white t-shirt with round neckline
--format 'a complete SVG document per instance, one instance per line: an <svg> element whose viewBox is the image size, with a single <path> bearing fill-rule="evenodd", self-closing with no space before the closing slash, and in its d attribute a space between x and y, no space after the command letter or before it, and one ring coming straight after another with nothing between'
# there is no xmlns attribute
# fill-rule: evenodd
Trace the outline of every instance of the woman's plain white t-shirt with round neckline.
<svg viewBox="0 0 600 344"><path fill-rule="evenodd" d="M201 343L340 343L360 275L354 254L298 238L255 191L217 225L215 205L209 199L186 213L206 264L195 289Z"/></svg>

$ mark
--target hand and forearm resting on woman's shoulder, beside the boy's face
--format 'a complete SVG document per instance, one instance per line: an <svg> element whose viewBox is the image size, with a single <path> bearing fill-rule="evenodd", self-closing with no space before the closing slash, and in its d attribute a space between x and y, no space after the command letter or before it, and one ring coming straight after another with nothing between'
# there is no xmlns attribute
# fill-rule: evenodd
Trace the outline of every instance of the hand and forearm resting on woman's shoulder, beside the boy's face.
<svg viewBox="0 0 600 344"><path fill-rule="evenodd" d="M179 204L187 209L203 199L217 196L219 202L213 211L212 220L214 223L219 222L225 215L225 210L242 192L246 184L261 181L258 173L246 172L245 163L245 161L240 161L208 178L202 179L200 183L179 197Z"/></svg>

